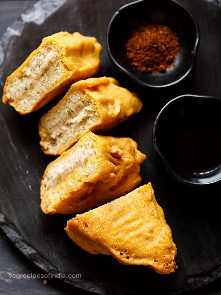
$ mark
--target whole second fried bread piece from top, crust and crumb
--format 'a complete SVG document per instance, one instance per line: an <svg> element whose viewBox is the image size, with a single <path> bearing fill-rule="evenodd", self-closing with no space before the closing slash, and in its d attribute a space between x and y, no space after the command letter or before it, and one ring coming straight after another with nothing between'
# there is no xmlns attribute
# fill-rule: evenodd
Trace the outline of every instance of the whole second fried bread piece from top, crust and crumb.
<svg viewBox="0 0 221 295"><path fill-rule="evenodd" d="M40 145L44 153L60 155L87 132L108 132L141 108L137 94L120 87L114 78L78 81L40 119Z"/></svg>

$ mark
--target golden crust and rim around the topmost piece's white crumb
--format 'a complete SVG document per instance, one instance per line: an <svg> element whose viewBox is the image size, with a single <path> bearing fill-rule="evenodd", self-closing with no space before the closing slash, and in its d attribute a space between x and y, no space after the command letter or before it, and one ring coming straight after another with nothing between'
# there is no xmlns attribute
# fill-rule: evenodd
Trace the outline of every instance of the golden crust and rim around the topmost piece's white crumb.
<svg viewBox="0 0 221 295"><path fill-rule="evenodd" d="M45 89L45 91L42 93L42 96L39 97L39 99L35 101L32 106L27 105L21 107L22 95L20 94L19 96L15 95L12 97L9 94L10 87L13 85L14 79L17 80L24 78L26 75L24 73L24 68L29 68L30 60L35 58L35 56L37 56L42 49L50 47L57 48L57 55L59 56L62 66L62 76L52 85L50 85L50 78L52 79L53 75L49 77L49 83L47 83L49 87ZM102 46L97 42L95 37L83 36L78 32L73 34L68 32L58 32L51 36L45 37L42 40L40 46L28 56L24 63L22 63L22 65L17 68L17 70L7 77L2 101L13 106L20 114L34 112L66 91L72 83L95 75L101 66L101 51ZM50 63L52 61L53 59L50 61ZM50 63L48 67L50 67ZM29 99L33 99L32 87L36 83L37 87L43 87L38 83L41 76L43 75L44 72L40 75L40 77L36 78L36 81L33 81L31 84L32 86L28 86L28 89L25 86L24 90L24 86L22 86L24 90L23 96L27 95Z"/></svg>

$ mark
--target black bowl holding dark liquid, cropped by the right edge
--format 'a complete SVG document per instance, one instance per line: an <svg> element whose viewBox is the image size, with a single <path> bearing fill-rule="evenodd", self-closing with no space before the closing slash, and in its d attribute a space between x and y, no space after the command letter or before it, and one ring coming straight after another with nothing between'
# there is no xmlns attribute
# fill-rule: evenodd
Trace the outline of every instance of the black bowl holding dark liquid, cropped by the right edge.
<svg viewBox="0 0 221 295"><path fill-rule="evenodd" d="M169 173L189 185L221 180L221 98L182 95L154 122L152 140Z"/></svg>

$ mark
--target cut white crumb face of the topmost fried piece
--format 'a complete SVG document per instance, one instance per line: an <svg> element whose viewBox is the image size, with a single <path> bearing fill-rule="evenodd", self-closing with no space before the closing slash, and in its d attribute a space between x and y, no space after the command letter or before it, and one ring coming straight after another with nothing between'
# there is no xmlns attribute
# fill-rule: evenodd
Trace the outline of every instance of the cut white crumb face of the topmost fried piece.
<svg viewBox="0 0 221 295"><path fill-rule="evenodd" d="M39 47L39 52L29 60L29 65L9 80L7 98L21 113L31 110L45 93L63 80L62 76L65 77L65 65L58 51L57 46L50 43Z"/></svg>

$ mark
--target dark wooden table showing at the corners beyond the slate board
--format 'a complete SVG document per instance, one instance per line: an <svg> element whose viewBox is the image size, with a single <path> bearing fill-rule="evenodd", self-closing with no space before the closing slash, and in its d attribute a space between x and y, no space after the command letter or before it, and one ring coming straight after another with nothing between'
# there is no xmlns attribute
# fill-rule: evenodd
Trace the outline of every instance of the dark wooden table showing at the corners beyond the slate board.
<svg viewBox="0 0 221 295"><path fill-rule="evenodd" d="M91 0L88 0L91 1ZM191 1L191 0L189 0ZM6 28L31 7L35 0L1 1L0 0L0 36ZM42 283L42 278L10 278L9 275L20 274L45 274L34 263L28 260L8 240L4 232L0 230L0 295L70 295L92 294L88 291L75 288L63 281L50 278L47 283ZM182 294L188 295L221 295L221 278Z"/></svg>

